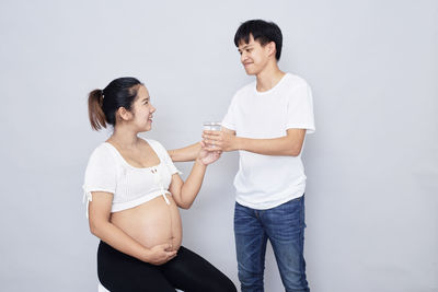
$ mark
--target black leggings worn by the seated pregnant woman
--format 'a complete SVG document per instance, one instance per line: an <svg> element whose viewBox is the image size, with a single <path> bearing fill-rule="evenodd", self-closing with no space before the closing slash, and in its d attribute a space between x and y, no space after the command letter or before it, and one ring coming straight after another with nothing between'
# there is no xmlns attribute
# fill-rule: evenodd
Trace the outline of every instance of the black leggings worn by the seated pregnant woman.
<svg viewBox="0 0 438 292"><path fill-rule="evenodd" d="M237 292L234 284L210 262L181 246L177 256L154 266L123 254L102 242L97 275L111 292Z"/></svg>

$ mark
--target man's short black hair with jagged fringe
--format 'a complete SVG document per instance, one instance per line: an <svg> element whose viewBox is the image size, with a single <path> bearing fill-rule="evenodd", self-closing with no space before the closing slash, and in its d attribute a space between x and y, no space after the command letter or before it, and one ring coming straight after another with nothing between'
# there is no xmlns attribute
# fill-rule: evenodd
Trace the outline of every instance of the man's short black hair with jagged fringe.
<svg viewBox="0 0 438 292"><path fill-rule="evenodd" d="M234 45L239 47L240 42L250 43L250 35L253 35L254 40L257 40L262 46L274 42L277 61L281 56L283 35L281 30L274 22L263 20L251 20L242 23L234 35Z"/></svg>

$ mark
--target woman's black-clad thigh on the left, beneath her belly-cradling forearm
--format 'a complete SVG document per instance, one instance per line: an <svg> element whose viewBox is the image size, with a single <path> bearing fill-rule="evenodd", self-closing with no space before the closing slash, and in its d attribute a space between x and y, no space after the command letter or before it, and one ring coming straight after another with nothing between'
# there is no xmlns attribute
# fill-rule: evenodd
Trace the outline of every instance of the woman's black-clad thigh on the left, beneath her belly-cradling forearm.
<svg viewBox="0 0 438 292"><path fill-rule="evenodd" d="M97 249L97 275L112 292L175 291L157 266L123 254L104 242Z"/></svg>

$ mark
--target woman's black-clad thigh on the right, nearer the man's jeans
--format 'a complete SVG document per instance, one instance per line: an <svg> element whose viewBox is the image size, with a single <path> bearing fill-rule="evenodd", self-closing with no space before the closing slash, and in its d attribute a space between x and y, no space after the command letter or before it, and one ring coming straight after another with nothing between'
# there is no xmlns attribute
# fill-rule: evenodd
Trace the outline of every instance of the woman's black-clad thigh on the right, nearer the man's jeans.
<svg viewBox="0 0 438 292"><path fill-rule="evenodd" d="M184 292L235 292L233 282L210 262L181 246L177 256L160 267L173 287Z"/></svg>

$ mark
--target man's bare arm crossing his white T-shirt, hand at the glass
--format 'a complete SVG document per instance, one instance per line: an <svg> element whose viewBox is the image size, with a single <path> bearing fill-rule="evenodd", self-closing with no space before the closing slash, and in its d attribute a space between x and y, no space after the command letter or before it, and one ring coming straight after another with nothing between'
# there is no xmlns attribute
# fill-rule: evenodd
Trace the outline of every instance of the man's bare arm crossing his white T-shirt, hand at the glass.
<svg viewBox="0 0 438 292"><path fill-rule="evenodd" d="M204 131L203 138L214 147L207 150L245 150L263 155L298 156L304 141L306 129L288 129L287 135L273 139L251 139L237 137L235 131L222 128L222 131Z"/></svg>

